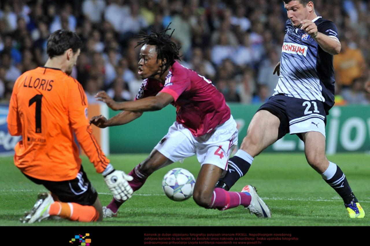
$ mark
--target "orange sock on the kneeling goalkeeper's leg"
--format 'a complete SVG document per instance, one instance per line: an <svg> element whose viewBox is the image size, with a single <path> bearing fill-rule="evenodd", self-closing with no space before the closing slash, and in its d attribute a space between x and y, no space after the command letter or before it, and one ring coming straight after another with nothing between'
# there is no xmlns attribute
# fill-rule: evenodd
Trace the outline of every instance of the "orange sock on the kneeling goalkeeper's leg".
<svg viewBox="0 0 370 246"><path fill-rule="evenodd" d="M49 214L80 222L97 221L99 218L99 212L93 206L74 202L53 202L50 205Z"/></svg>

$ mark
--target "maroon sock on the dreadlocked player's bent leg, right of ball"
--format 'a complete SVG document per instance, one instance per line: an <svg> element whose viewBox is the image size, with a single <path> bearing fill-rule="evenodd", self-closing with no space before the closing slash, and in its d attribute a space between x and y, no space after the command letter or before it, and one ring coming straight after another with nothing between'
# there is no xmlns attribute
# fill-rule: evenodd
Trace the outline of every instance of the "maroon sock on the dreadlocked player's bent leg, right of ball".
<svg viewBox="0 0 370 246"><path fill-rule="evenodd" d="M217 208L223 211L229 208L235 208L239 205L247 207L251 199L252 197L246 192L231 192L221 188L215 188L209 208Z"/></svg>

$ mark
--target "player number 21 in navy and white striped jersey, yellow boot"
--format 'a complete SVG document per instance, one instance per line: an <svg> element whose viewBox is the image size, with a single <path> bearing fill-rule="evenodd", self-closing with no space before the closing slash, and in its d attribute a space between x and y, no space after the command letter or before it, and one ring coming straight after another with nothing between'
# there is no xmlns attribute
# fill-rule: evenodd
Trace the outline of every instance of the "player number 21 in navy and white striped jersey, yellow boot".
<svg viewBox="0 0 370 246"><path fill-rule="evenodd" d="M350 218L365 213L346 176L325 155L326 115L334 105L333 55L341 49L332 21L317 16L313 1L284 0L282 57L276 65L275 93L253 117L240 150L229 160L229 171L216 186L229 189L246 174L253 158L286 133L305 142L311 167L342 197Z"/></svg>

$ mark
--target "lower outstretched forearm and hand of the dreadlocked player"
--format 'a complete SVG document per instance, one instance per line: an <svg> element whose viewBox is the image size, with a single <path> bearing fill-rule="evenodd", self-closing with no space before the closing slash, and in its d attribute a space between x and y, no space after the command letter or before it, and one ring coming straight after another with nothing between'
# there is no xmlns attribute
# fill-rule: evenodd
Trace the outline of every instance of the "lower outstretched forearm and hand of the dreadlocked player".
<svg viewBox="0 0 370 246"><path fill-rule="evenodd" d="M107 126L120 126L132 122L142 115L142 112L122 111L109 120L102 115L94 116L90 119L90 124L97 127L105 128Z"/></svg>

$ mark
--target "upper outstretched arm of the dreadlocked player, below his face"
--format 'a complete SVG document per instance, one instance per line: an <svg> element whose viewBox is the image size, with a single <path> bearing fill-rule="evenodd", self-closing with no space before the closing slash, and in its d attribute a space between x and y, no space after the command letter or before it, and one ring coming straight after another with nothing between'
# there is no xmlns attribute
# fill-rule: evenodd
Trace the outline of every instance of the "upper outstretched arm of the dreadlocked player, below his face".
<svg viewBox="0 0 370 246"><path fill-rule="evenodd" d="M164 108L174 101L174 98L165 92L159 92L156 96L148 96L133 102L114 102L105 91L100 91L95 95L98 101L107 103L108 107L113 110L128 111L156 111Z"/></svg>

